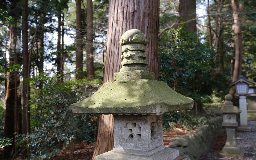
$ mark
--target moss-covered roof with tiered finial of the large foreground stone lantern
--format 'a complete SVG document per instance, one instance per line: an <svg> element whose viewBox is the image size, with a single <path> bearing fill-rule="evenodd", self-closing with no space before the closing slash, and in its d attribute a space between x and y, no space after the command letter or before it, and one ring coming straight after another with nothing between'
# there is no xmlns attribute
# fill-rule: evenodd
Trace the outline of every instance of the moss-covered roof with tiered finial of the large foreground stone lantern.
<svg viewBox="0 0 256 160"><path fill-rule="evenodd" d="M149 72L140 30L126 31L120 40L122 69L92 96L71 105L76 114L163 114L193 107L193 100L155 80Z"/></svg>

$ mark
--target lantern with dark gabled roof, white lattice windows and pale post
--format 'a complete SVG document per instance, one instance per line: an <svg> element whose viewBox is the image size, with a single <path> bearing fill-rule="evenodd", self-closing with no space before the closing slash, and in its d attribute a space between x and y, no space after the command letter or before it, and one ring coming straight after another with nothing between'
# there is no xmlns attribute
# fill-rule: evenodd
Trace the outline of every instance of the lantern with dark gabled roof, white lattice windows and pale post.
<svg viewBox="0 0 256 160"><path fill-rule="evenodd" d="M240 75L237 80L230 83L230 86L235 86L236 93L239 96L239 108L242 110L240 113L240 126L237 127L237 130L242 131L251 131L251 128L248 127L247 120L247 105L246 105L246 95L248 95L249 85L254 85L254 82L248 81L244 76Z"/></svg>

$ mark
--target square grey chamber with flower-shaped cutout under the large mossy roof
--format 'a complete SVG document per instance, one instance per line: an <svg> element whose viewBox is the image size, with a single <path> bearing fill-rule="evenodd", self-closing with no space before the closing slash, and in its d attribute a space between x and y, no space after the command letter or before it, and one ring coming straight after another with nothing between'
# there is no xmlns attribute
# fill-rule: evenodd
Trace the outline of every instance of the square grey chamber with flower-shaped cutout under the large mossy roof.
<svg viewBox="0 0 256 160"><path fill-rule="evenodd" d="M163 146L162 123L161 115L114 115L114 149L150 151Z"/></svg>

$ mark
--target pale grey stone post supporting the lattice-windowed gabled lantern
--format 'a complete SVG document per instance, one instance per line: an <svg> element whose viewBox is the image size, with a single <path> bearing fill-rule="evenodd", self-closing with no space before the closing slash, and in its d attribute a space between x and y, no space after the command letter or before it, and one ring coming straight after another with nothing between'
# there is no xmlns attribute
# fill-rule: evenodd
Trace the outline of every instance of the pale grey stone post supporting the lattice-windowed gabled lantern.
<svg viewBox="0 0 256 160"><path fill-rule="evenodd" d="M247 120L246 96L239 96L239 109L242 110L242 112L240 113L240 126L237 127L237 130L250 132L251 128L248 127Z"/></svg>

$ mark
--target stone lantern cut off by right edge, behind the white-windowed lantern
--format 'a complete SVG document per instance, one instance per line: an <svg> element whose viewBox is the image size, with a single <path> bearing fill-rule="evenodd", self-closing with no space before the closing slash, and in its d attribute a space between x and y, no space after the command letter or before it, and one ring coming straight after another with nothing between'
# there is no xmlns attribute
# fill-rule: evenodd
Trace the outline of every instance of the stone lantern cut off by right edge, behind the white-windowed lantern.
<svg viewBox="0 0 256 160"><path fill-rule="evenodd" d="M254 74L246 74L246 77L249 81L253 82ZM254 82L255 84L255 82ZM249 85L248 95L247 98L247 119L255 121L256 120L256 86Z"/></svg>

